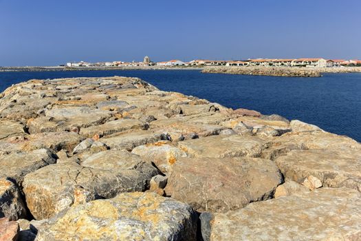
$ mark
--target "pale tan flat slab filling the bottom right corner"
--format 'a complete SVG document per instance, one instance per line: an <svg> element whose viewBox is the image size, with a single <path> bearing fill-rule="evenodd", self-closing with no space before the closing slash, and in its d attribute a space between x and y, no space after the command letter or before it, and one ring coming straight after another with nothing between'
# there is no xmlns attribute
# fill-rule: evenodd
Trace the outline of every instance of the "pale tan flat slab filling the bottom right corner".
<svg viewBox="0 0 361 241"><path fill-rule="evenodd" d="M322 188L219 213L210 240L360 240L361 193Z"/></svg>

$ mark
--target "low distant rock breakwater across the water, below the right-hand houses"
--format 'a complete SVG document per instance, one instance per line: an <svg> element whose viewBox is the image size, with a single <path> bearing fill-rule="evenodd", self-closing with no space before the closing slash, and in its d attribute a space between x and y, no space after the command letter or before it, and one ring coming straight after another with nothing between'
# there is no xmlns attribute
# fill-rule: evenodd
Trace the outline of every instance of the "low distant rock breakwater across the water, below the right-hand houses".
<svg viewBox="0 0 361 241"><path fill-rule="evenodd" d="M205 67L202 73L247 74L287 77L319 77L322 73L361 72L361 67L253 67L253 66L222 66Z"/></svg>

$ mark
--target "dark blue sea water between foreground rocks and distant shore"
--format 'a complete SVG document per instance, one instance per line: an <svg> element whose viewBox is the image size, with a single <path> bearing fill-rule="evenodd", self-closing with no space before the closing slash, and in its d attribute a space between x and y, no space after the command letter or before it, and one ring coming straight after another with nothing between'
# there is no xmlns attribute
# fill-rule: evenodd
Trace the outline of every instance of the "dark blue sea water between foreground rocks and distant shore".
<svg viewBox="0 0 361 241"><path fill-rule="evenodd" d="M0 72L0 91L32 78L135 76L161 90L318 125L361 142L361 73L291 78L201 74L198 70Z"/></svg>

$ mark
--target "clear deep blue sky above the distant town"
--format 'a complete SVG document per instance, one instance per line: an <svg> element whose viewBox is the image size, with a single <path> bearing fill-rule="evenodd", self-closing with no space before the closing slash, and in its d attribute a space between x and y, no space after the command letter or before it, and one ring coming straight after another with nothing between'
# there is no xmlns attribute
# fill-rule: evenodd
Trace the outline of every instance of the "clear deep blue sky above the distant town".
<svg viewBox="0 0 361 241"><path fill-rule="evenodd" d="M0 66L361 59L360 0L0 0Z"/></svg>

